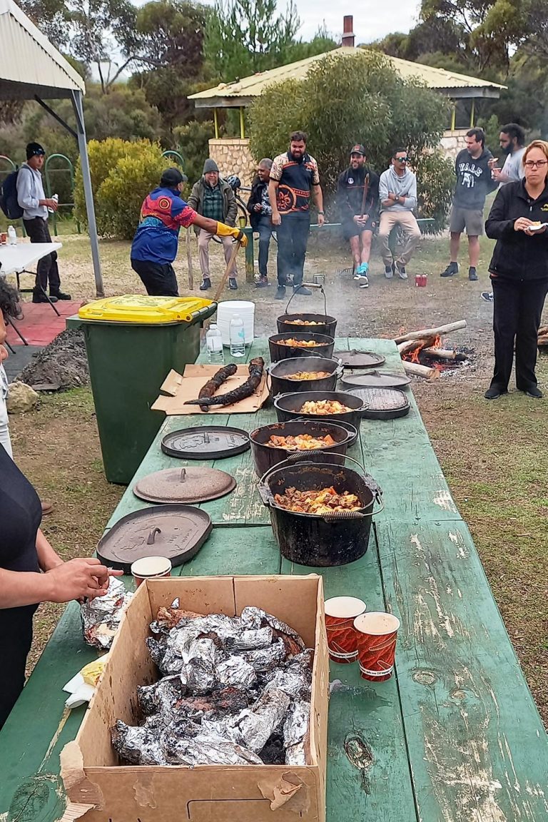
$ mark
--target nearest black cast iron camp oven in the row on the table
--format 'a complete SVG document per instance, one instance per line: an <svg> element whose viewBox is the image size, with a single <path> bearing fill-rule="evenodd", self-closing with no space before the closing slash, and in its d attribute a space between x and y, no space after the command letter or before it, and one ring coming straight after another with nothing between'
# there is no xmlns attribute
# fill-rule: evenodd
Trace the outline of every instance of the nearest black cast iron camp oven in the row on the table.
<svg viewBox="0 0 548 822"><path fill-rule="evenodd" d="M259 483L260 496L269 508L274 537L282 556L300 565L323 568L347 565L359 559L369 543L375 501L380 504L375 513L384 507L380 487L368 473L362 475L344 465L319 464L310 460L295 462L299 456L303 455L294 454L265 473ZM356 494L360 509L298 514L281 508L274 499L275 494L283 494L288 488L321 491L330 486L338 494L345 491Z"/></svg>

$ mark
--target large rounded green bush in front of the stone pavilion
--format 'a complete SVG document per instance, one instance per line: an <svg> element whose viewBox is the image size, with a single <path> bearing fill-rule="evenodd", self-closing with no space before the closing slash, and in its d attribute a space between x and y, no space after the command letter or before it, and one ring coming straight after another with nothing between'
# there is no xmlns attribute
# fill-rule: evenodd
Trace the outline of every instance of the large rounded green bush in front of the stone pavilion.
<svg viewBox="0 0 548 822"><path fill-rule="evenodd" d="M311 69L306 82L272 85L251 105L251 152L257 160L274 157L286 149L289 133L302 128L309 135L307 148L320 166L329 204L353 143L366 145L368 162L378 172L386 169L397 145L406 146L420 168L423 155L439 145L446 118L446 101L417 81L404 81L382 54L328 55ZM424 163L430 174L435 161ZM443 173L440 167L441 184L449 192L451 184ZM423 199L426 204L426 196ZM438 227L443 214L444 206L436 213Z"/></svg>

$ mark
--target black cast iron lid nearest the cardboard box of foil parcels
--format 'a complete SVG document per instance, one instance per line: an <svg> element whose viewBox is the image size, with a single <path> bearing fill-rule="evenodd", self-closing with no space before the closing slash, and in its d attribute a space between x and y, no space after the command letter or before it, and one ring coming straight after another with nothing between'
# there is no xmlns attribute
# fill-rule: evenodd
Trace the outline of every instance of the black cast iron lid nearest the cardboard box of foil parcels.
<svg viewBox="0 0 548 822"><path fill-rule="evenodd" d="M97 556L106 565L131 573L143 556L165 556L173 566L191 560L210 536L210 515L192 506L143 508L123 516L104 534Z"/></svg>

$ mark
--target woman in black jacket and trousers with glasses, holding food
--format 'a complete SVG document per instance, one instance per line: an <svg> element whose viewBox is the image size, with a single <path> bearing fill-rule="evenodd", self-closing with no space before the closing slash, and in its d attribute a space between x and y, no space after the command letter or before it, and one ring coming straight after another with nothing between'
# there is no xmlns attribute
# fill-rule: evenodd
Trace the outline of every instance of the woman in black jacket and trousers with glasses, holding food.
<svg viewBox="0 0 548 822"><path fill-rule="evenodd" d="M516 386L541 398L536 386L537 334L548 292L548 143L535 140L523 155L525 178L499 189L486 221L495 239L490 279L495 300L495 371L486 399L508 393L516 349Z"/></svg>

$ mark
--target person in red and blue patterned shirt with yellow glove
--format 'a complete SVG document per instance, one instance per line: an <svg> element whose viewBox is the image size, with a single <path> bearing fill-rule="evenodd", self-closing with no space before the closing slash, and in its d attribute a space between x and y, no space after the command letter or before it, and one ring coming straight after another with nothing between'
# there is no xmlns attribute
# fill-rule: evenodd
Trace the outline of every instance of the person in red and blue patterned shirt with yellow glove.
<svg viewBox="0 0 548 822"><path fill-rule="evenodd" d="M146 293L153 297L178 297L173 261L177 256L179 229L197 225L219 237L233 237L247 245L240 229L202 217L182 199L187 177L179 169L166 169L159 188L145 197L140 223L131 243L131 268L140 276Z"/></svg>

